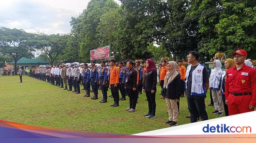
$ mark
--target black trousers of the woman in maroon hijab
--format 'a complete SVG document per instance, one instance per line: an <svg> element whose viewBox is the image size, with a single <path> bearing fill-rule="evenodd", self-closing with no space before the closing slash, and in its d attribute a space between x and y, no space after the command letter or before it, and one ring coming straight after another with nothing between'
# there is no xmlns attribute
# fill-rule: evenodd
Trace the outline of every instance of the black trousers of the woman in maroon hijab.
<svg viewBox="0 0 256 143"><path fill-rule="evenodd" d="M156 91L145 91L148 100L148 114L156 114Z"/></svg>

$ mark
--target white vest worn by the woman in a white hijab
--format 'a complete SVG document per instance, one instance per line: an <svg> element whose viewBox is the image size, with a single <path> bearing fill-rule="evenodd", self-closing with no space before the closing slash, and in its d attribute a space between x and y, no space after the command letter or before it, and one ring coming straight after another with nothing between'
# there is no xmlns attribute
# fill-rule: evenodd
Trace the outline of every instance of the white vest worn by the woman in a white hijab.
<svg viewBox="0 0 256 143"><path fill-rule="evenodd" d="M210 89L219 91L219 83L221 83L221 79L224 78L226 72L224 69L219 69L217 72L212 69L210 75Z"/></svg>

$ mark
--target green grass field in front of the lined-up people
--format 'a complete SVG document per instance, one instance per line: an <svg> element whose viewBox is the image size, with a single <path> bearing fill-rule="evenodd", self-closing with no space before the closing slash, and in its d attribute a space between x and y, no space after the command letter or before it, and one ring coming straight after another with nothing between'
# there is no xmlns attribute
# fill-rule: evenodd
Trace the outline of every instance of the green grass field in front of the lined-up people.
<svg viewBox="0 0 256 143"><path fill-rule="evenodd" d="M130 113L124 110L129 107L128 97L114 108L109 106L113 98L108 98L108 103L98 102L102 100L101 91L98 100L91 100L83 97L85 91L82 90L81 94L74 94L28 76L23 76L23 83L19 83L19 76L0 76L0 119L41 127L118 134L162 129L168 127L164 124L168 113L165 100L160 99L159 84L157 88L156 118L149 119L143 116L148 112L145 94L139 95L136 111ZM206 105L209 103L208 95ZM213 107L206 107L206 110L209 119L219 117L210 113ZM181 98L179 125L190 123L189 118L185 118L187 115L187 100Z"/></svg>

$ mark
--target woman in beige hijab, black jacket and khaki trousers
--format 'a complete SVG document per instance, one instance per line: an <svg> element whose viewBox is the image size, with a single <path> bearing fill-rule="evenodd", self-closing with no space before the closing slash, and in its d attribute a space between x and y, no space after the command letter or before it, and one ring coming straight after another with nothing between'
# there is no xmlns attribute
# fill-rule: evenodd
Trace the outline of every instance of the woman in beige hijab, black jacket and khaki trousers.
<svg viewBox="0 0 256 143"><path fill-rule="evenodd" d="M180 69L178 63L170 61L167 63L167 73L163 83L163 99L165 99L169 120L165 122L171 127L178 125L178 106L182 94L182 82L180 81Z"/></svg>

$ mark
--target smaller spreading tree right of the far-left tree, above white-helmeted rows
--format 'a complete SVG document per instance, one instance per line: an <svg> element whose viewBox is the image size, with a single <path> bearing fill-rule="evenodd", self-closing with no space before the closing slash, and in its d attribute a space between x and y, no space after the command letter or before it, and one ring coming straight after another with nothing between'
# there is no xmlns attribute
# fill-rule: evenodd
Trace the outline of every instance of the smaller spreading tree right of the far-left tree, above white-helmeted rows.
<svg viewBox="0 0 256 143"><path fill-rule="evenodd" d="M37 48L44 52L42 56L46 56L50 64L53 65L67 47L67 38L68 35L65 34L40 34L37 36Z"/></svg>

